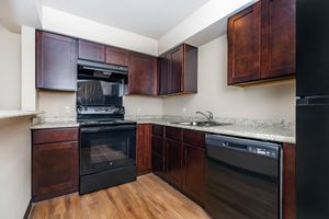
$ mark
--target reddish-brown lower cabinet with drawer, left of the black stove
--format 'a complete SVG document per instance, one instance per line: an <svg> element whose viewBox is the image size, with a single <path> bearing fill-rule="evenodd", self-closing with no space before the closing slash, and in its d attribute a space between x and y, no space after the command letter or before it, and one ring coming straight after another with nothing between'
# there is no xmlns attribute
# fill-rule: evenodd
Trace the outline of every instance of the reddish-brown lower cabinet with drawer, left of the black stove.
<svg viewBox="0 0 329 219"><path fill-rule="evenodd" d="M78 191L78 128L32 130L33 201Z"/></svg>

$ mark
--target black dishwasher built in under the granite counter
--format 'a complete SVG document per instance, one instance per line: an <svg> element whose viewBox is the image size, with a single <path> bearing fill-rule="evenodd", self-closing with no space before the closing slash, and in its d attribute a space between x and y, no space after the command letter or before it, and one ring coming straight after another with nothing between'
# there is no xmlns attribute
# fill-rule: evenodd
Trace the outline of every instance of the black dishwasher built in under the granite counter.
<svg viewBox="0 0 329 219"><path fill-rule="evenodd" d="M281 145L206 135L205 209L214 219L282 218Z"/></svg>

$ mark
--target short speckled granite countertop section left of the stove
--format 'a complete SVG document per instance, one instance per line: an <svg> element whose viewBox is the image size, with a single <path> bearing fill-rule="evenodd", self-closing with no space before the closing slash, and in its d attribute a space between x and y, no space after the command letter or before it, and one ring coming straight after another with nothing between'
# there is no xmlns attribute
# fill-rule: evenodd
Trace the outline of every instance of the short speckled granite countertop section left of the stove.
<svg viewBox="0 0 329 219"><path fill-rule="evenodd" d="M47 119L35 119L31 129L47 129L47 128L73 128L79 127L76 118L47 118Z"/></svg>

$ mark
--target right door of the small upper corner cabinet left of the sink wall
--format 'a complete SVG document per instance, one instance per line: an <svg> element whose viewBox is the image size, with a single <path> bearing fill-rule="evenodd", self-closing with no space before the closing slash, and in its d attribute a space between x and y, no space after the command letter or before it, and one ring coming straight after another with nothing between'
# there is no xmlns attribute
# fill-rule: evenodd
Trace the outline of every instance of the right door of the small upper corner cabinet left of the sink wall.
<svg viewBox="0 0 329 219"><path fill-rule="evenodd" d="M183 46L170 51L169 61L169 93L180 93L183 91Z"/></svg>

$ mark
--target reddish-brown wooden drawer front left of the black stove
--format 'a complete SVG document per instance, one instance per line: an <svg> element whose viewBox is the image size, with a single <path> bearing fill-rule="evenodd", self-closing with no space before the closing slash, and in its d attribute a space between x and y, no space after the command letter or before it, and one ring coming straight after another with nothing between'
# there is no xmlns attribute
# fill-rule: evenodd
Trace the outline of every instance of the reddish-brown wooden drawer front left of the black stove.
<svg viewBox="0 0 329 219"><path fill-rule="evenodd" d="M79 128L55 128L32 130L32 143L78 141Z"/></svg>

